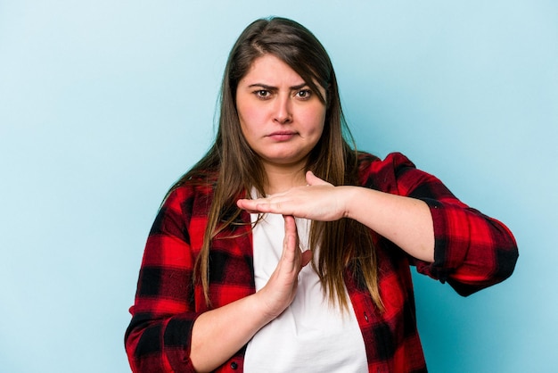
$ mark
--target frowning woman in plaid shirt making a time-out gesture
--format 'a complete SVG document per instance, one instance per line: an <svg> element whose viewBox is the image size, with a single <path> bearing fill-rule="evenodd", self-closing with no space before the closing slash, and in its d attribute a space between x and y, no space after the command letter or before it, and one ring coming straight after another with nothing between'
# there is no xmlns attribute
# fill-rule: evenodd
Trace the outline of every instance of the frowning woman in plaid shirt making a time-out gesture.
<svg viewBox="0 0 558 373"><path fill-rule="evenodd" d="M358 153L308 29L258 20L229 55L215 144L148 238L130 365L425 371L409 265L468 295L509 277L511 232L400 153Z"/></svg>

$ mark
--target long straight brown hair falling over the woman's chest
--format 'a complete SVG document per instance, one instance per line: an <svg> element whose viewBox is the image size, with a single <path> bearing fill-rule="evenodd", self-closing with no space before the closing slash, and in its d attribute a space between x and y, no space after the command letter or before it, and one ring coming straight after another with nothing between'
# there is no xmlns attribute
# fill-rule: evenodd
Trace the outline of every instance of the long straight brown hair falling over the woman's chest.
<svg viewBox="0 0 558 373"><path fill-rule="evenodd" d="M324 132L309 154L307 170L334 186L358 185L358 154L343 117L337 80L324 46L295 21L275 17L252 22L238 37L226 62L215 143L170 190L185 183L215 189L194 277L194 281L201 281L207 303L211 240L238 220L239 196L248 195L252 187L265 195L266 172L242 135L235 104L239 81L248 73L251 63L264 54L273 54L288 64L326 105ZM324 87L325 96L316 84ZM309 244L311 248L319 246L313 266L330 302L347 307L343 276L349 267L360 282L364 281L373 302L382 309L376 255L368 228L356 220L313 221Z"/></svg>

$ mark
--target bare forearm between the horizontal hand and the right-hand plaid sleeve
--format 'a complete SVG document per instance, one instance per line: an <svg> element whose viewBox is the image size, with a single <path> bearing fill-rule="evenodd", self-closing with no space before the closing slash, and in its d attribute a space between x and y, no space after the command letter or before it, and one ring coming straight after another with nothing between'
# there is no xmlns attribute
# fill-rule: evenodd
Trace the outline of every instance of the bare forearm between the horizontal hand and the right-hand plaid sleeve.
<svg viewBox="0 0 558 373"><path fill-rule="evenodd" d="M345 216L388 238L414 258L434 261L434 228L421 200L365 187L339 187Z"/></svg>

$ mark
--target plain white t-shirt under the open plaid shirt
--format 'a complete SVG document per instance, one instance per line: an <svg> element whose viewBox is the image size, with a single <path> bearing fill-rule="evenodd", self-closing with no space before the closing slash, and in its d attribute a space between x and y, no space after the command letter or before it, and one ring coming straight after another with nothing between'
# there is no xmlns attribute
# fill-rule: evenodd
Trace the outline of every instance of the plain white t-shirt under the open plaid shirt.
<svg viewBox="0 0 558 373"><path fill-rule="evenodd" d="M252 222L258 219L252 214ZM300 247L308 247L309 220L297 219ZM267 284L283 252L282 215L267 214L252 232L256 290ZM314 253L316 256L316 253ZM349 297L348 297L349 299ZM366 352L357 318L324 299L319 278L308 264L299 274L291 305L252 337L244 371L367 372Z"/></svg>

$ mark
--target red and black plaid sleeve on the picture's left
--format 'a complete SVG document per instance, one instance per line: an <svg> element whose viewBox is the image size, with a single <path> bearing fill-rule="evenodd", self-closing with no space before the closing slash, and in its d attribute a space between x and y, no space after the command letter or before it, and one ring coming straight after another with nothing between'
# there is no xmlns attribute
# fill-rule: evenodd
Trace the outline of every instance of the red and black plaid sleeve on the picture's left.
<svg viewBox="0 0 558 373"><path fill-rule="evenodd" d="M194 371L189 359L192 328L201 312L193 302L194 255L186 228L189 205L184 189L169 195L145 245L125 336L134 372Z"/></svg>

